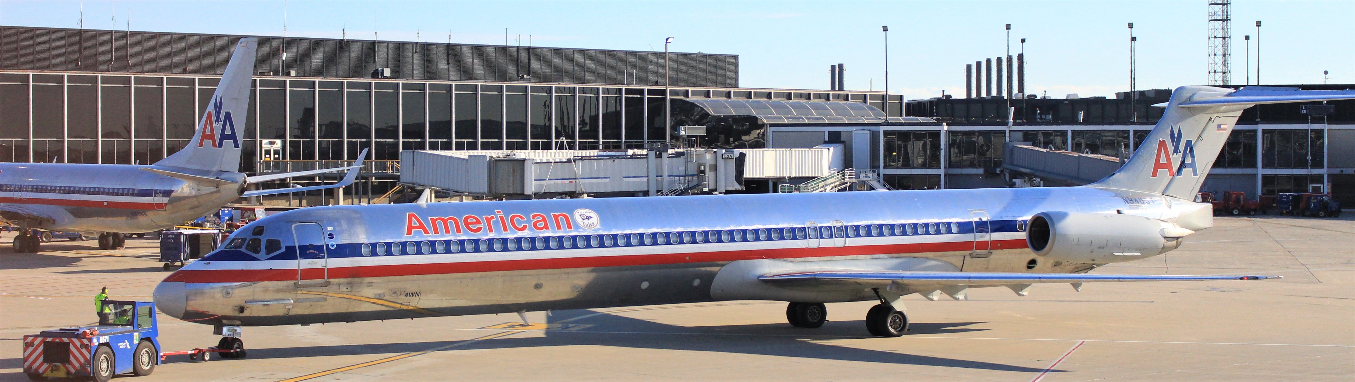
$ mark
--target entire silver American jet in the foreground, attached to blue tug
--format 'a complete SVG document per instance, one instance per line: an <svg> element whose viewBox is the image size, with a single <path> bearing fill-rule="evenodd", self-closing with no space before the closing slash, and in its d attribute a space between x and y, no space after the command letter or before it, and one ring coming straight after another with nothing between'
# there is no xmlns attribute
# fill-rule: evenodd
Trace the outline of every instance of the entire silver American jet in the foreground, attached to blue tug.
<svg viewBox="0 0 1355 382"><path fill-rule="evenodd" d="M1238 114L1355 91L1177 88L1142 149L1081 187L327 206L259 219L154 290L165 314L238 326L767 299L791 325L827 302L965 299L1034 283L1257 280L1107 275L1213 225L1192 202ZM225 348L243 349L234 335Z"/></svg>

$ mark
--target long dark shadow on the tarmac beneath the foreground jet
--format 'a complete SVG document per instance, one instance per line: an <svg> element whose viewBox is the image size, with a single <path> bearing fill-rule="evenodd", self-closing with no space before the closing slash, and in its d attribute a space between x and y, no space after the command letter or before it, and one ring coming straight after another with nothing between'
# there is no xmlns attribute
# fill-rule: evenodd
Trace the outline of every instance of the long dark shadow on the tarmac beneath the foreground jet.
<svg viewBox="0 0 1355 382"><path fill-rule="evenodd" d="M554 312L549 324L560 324L575 317L596 314L592 310ZM911 355L892 351L874 351L854 347L822 344L813 340L862 339L867 337L862 321L829 321L818 329L793 328L789 324L678 326L614 314L598 314L565 324L583 328L569 331L545 331L543 337L491 339L458 345L454 349L496 349L557 345L604 345L650 349L733 352L748 355L794 356L825 360L855 360L894 364L919 364L959 368L982 368L999 371L1041 373L1043 368L977 362L953 358ZM909 333L936 335L976 332L986 329L958 328L984 322L930 322L912 324ZM493 333L493 332L485 332ZM900 339L873 339L897 341ZM253 348L249 359L274 359L297 356L333 356L358 354L398 354L427 351L455 344L458 341L388 343L369 345L322 345L294 348ZM1061 370L1050 370L1058 373Z"/></svg>

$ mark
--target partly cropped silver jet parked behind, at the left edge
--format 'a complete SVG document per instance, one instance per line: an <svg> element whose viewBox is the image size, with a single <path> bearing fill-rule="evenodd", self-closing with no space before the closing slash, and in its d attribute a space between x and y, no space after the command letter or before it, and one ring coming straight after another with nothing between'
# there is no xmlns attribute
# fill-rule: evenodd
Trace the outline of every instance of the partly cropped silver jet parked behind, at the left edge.
<svg viewBox="0 0 1355 382"><path fill-rule="evenodd" d="M249 110L257 38L243 38L188 146L154 164L0 163L0 224L22 228L14 252L38 252L30 229L102 232L99 249L122 248L122 233L150 232L195 219L241 196L344 187L352 167L264 176L240 173L240 138ZM237 122L238 121L238 122ZM335 184L245 191L248 184L344 171Z"/></svg>

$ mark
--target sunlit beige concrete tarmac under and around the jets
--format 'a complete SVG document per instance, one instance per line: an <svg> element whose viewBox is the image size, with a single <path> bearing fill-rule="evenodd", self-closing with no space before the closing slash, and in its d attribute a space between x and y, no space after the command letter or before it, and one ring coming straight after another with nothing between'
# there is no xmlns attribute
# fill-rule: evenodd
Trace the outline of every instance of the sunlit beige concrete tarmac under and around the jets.
<svg viewBox="0 0 1355 382"><path fill-rule="evenodd" d="M92 297L149 299L157 242L43 244L0 236L0 381L22 336L96 321ZM1256 282L1037 284L1028 297L905 297L909 335L871 337L874 302L829 303L822 328L783 302L730 301L527 314L245 328L245 359L171 356L123 381L1355 381L1355 218L1215 218L1163 256L1100 274L1283 275ZM160 316L167 351L217 343Z"/></svg>

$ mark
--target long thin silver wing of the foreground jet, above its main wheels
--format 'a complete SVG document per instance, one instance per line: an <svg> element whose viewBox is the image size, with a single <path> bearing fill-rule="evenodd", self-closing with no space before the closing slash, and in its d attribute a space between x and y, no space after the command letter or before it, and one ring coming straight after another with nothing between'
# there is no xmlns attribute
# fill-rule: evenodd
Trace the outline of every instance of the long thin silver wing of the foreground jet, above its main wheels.
<svg viewBox="0 0 1355 382"><path fill-rule="evenodd" d="M808 271L768 274L757 279L775 286L843 286L885 287L893 283L930 286L1035 284L1035 283L1102 283L1102 282L1191 282L1191 280L1263 280L1283 276L1237 275L1095 275L1095 274L1016 274L1016 272L915 272L915 271Z"/></svg>

